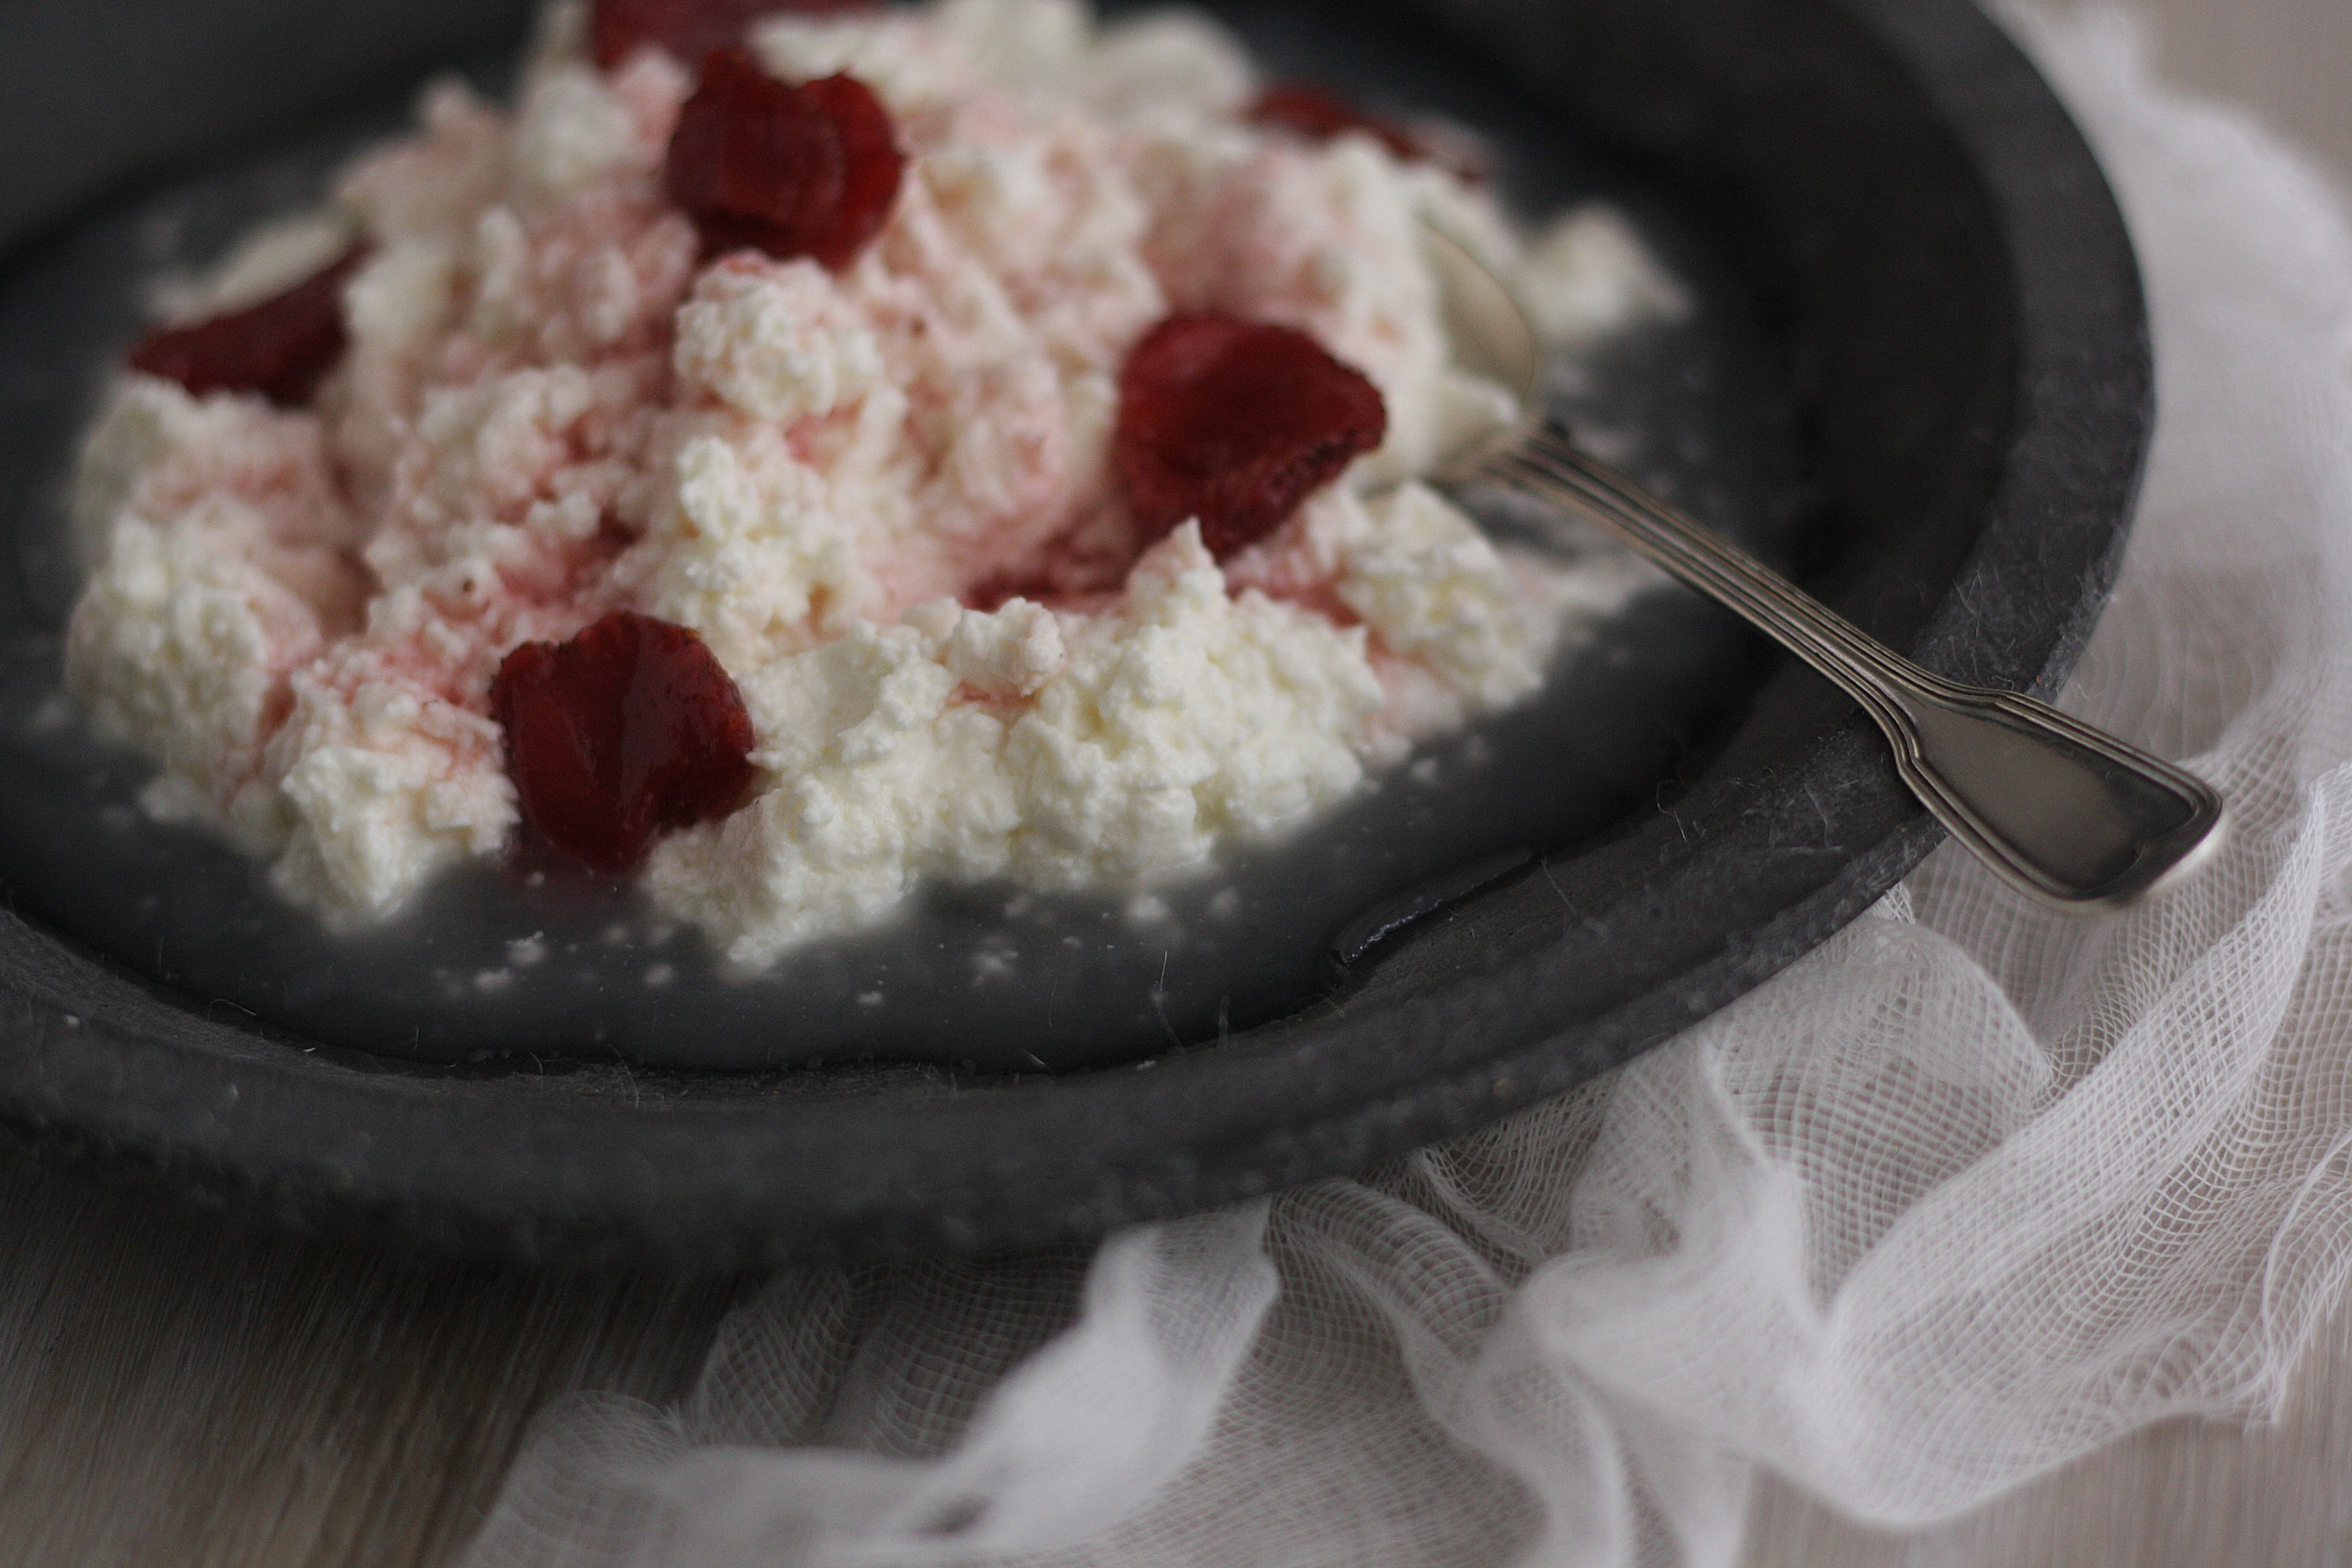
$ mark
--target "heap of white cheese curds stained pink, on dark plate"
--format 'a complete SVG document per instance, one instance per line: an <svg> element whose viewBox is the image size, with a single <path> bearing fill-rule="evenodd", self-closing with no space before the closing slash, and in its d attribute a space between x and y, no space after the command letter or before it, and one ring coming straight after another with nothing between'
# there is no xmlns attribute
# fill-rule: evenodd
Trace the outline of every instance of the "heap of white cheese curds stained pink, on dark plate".
<svg viewBox="0 0 2352 1568"><path fill-rule="evenodd" d="M750 28L786 80L868 82L906 169L840 270L701 256L663 193L691 75L597 71L583 16L548 12L513 110L433 89L327 212L172 296L365 244L310 409L127 374L85 442L73 693L158 764L155 816L332 924L510 844L492 677L612 609L743 693L755 795L642 882L757 966L927 879L1148 884L1279 835L1529 696L1606 597L1409 482L1515 414L1451 364L1421 221L1566 336L1675 308L1630 230L1585 214L1522 263L1454 174L1249 122L1195 14L938 0ZM1223 564L1195 524L1138 541L1110 468L1120 364L1188 308L1312 334L1388 409Z"/></svg>

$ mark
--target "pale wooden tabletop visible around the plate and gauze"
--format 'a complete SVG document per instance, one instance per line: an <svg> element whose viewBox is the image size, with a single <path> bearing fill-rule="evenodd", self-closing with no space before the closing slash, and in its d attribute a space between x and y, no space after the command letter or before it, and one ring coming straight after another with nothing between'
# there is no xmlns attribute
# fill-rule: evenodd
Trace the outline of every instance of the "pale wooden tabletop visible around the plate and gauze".
<svg viewBox="0 0 2352 1568"><path fill-rule="evenodd" d="M2147 0L2178 80L2352 188L2352 0ZM670 1399L722 1281L386 1260L0 1150L0 1563L428 1568L564 1389ZM2171 1422L1945 1528L1884 1537L1771 1481L1752 1563L2352 1563L2352 1309L2286 1418Z"/></svg>

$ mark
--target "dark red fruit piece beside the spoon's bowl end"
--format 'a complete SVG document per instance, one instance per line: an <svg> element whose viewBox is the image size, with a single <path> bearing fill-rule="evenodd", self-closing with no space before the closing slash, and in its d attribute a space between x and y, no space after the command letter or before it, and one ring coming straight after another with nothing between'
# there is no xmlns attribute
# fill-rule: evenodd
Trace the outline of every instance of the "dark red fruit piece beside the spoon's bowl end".
<svg viewBox="0 0 2352 1568"><path fill-rule="evenodd" d="M1362 371L1291 327L1171 315L1120 369L1112 465L1145 538L1200 517L1225 559L1256 543L1388 435Z"/></svg>

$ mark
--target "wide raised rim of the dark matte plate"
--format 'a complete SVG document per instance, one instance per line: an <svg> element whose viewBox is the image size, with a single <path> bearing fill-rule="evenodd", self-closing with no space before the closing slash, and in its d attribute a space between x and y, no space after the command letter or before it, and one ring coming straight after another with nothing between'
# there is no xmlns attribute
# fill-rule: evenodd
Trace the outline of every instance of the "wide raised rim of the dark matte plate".
<svg viewBox="0 0 2352 1568"><path fill-rule="evenodd" d="M454 56L513 26L416 5L339 7L329 26L261 0L195 26L125 2L101 59L92 7L12 9L35 40L33 66L19 54L21 80L0 82L16 122L0 129L24 148L0 176L0 233L16 237L299 127L369 59ZM2063 675L2122 548L2145 322L2096 165L1980 14L1303 0L1244 21L1291 59L1374 31L1465 61L1698 214L1802 411L1813 585L1950 675ZM285 71L202 71L223 38ZM273 80L245 99L223 87ZM0 364L0 414L31 404L24 381ZM54 440L28 428L0 421L5 440ZM1383 943L1327 1001L1143 1065L421 1067L254 1027L5 919L0 1119L45 1152L303 1225L680 1267L1073 1239L1355 1171L1665 1039L1933 844L1851 710L1795 668L1740 658L1752 698L1611 827Z"/></svg>

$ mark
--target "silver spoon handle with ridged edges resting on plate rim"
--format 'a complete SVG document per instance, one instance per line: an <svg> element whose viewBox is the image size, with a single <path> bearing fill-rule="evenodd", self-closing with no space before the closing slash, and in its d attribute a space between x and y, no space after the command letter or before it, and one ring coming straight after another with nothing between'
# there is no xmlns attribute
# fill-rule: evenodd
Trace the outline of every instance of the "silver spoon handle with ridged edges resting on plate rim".
<svg viewBox="0 0 2352 1568"><path fill-rule="evenodd" d="M1830 677L1886 731L1896 771L1936 820L2042 903L2110 910L2220 844L2227 811L2201 778L2049 703L1922 670L1581 451L1555 421L1489 454L1477 475L1588 517Z"/></svg>

